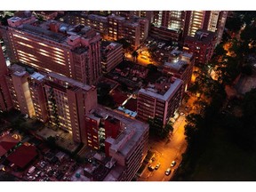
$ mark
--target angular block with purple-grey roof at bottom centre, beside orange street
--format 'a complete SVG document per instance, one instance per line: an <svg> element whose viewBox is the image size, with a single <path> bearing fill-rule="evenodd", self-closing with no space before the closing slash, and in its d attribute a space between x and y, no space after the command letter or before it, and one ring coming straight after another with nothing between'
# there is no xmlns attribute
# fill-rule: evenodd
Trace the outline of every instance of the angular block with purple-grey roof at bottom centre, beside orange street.
<svg viewBox="0 0 256 192"><path fill-rule="evenodd" d="M132 180L148 152L148 124L99 107L86 116L86 125L88 145L99 148L93 146L98 140L111 159L104 180Z"/></svg>

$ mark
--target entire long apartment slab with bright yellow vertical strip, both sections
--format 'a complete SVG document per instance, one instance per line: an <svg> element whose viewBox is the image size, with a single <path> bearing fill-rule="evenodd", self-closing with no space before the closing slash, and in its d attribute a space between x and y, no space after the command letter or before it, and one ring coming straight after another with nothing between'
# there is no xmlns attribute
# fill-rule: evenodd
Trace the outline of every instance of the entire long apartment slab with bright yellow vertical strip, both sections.
<svg viewBox="0 0 256 192"><path fill-rule="evenodd" d="M93 86L56 73L38 73L13 64L6 76L14 108L22 114L49 122L86 142L85 115L97 107Z"/></svg>

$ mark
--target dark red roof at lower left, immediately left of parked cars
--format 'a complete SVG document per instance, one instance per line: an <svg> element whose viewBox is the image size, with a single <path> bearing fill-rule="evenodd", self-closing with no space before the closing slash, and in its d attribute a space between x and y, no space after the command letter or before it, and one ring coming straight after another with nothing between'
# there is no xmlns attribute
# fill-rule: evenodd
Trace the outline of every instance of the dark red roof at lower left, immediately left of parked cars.
<svg viewBox="0 0 256 192"><path fill-rule="evenodd" d="M10 156L8 156L7 160L12 164L19 166L20 168L24 168L36 156L36 147L22 145L20 148L17 148Z"/></svg>

